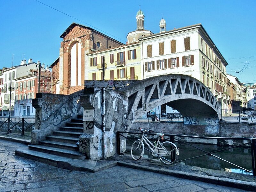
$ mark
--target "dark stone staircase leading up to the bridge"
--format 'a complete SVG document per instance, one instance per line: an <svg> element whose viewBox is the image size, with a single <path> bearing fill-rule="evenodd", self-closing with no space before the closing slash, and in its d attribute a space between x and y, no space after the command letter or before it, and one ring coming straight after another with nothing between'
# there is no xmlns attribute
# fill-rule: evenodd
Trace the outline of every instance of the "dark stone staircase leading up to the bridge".
<svg viewBox="0 0 256 192"><path fill-rule="evenodd" d="M54 131L39 145L28 145L28 149L17 149L15 155L55 165L56 162L71 159L83 160L86 156L78 151L77 142L83 134L83 116L71 119L71 122Z"/></svg>

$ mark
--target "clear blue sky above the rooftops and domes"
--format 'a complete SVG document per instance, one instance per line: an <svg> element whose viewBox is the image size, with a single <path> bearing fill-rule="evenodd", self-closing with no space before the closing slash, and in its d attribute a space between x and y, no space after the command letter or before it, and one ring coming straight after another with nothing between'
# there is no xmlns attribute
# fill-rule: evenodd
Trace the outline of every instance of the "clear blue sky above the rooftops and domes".
<svg viewBox="0 0 256 192"><path fill-rule="evenodd" d="M0 68L19 65L22 59L40 60L51 65L59 57L60 35L72 22L86 25L126 42L136 29L136 13L145 15L145 29L159 32L159 21L166 30L201 23L228 61L227 73L241 82L256 83L256 1L79 1L0 0ZM83 21L83 22L82 22ZM240 71L249 62L244 72Z"/></svg>

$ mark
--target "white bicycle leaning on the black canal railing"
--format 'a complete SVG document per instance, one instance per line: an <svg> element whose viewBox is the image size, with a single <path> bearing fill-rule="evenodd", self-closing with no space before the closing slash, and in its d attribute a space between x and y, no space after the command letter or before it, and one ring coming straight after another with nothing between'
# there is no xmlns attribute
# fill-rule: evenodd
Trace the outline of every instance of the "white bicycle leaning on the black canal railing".
<svg viewBox="0 0 256 192"><path fill-rule="evenodd" d="M131 156L134 160L139 160L140 157L143 156L144 154L144 143L143 141L147 144L149 147L149 151L152 152L152 155L155 157L158 157L160 161L162 161L164 164L171 165L174 164L178 157L179 157L179 149L177 146L170 142L170 141L165 141L161 143L159 140L164 140L164 134L163 133L156 133L158 136L157 141L151 143L147 137L145 136L145 132L154 132L152 130L145 130L141 129L139 127L139 130L143 133L141 139L138 139L132 144L131 148ZM148 150L148 149L147 149Z"/></svg>

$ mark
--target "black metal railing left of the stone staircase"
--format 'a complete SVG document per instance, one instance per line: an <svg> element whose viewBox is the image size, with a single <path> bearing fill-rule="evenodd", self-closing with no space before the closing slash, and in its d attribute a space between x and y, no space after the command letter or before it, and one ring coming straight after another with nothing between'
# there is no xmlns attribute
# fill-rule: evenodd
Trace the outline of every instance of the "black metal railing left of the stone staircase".
<svg viewBox="0 0 256 192"><path fill-rule="evenodd" d="M2 120L0 127L7 129L7 134L16 128L16 130L21 131L21 135L24 135L28 129L34 129L33 125L35 124L35 117L0 117L0 120ZM29 123L28 120L31 122Z"/></svg>

